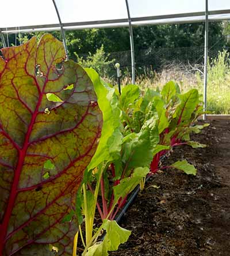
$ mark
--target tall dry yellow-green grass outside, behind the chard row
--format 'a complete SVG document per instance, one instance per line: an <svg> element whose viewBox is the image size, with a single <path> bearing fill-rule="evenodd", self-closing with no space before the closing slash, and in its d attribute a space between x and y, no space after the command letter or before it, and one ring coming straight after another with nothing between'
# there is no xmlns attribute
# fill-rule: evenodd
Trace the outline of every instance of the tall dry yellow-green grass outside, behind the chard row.
<svg viewBox="0 0 230 256"><path fill-rule="evenodd" d="M203 94L204 91L204 67L170 63L156 73L152 69L136 77L136 84L142 89L162 88L170 80L177 81L181 91L197 88ZM116 83L114 78L105 78L108 82ZM121 85L131 84L131 76L123 76ZM230 114L230 61L229 53L224 50L218 53L218 57L208 62L208 88L207 110L211 114Z"/></svg>

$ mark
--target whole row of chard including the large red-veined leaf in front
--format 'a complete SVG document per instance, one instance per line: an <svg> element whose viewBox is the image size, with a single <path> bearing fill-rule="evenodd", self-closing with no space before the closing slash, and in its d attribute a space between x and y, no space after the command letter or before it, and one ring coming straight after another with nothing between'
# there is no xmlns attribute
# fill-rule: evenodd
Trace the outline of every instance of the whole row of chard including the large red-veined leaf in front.
<svg viewBox="0 0 230 256"><path fill-rule="evenodd" d="M109 255L131 234L116 222L129 194L190 140L203 103L181 93L122 88L65 61L61 42L44 35L2 49L0 58L0 255ZM97 217L101 220L98 220Z"/></svg>

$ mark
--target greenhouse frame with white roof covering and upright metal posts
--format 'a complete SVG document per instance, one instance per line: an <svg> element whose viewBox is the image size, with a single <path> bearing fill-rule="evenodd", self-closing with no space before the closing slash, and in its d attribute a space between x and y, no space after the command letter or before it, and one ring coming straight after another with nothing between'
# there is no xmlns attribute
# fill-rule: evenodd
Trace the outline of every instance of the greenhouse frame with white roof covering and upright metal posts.
<svg viewBox="0 0 230 256"><path fill-rule="evenodd" d="M205 22L204 110L206 110L208 24L209 21L230 19L230 5L227 0L194 0L192 5L188 1L181 0L164 0L161 5L152 0L141 2L137 0L89 0L84 2L42 0L36 6L35 13L33 4L33 1L29 0L13 0L14 10L11 16L13 18L9 19L7 12L1 14L0 36L3 47L9 46L9 42L7 44L5 39L5 35L8 33L60 30L68 58L65 31L85 28L129 27L133 84L135 84L133 26ZM10 5L12 5L12 1L4 2L3 9L9 10ZM91 6L90 9L89 6Z"/></svg>

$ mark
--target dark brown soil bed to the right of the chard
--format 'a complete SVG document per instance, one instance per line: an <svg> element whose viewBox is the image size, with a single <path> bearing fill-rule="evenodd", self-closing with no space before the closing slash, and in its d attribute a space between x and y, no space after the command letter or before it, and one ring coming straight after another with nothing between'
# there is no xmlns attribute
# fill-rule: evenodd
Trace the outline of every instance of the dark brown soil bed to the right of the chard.
<svg viewBox="0 0 230 256"><path fill-rule="evenodd" d="M132 235L110 255L230 256L230 122L212 121L193 140L208 146L180 146L163 164L187 159L197 176L154 175L121 220Z"/></svg>

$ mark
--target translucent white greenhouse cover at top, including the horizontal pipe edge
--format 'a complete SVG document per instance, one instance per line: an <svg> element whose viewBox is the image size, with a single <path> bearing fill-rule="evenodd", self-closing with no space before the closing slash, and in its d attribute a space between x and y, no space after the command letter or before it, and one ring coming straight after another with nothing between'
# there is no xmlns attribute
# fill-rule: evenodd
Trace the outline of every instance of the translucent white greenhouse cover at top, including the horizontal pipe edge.
<svg viewBox="0 0 230 256"><path fill-rule="evenodd" d="M56 0L65 29L128 25L125 0ZM128 0L133 25L203 21L205 0ZM210 20L230 18L230 0L209 0ZM1 2L0 29L40 31L59 29L52 0Z"/></svg>

